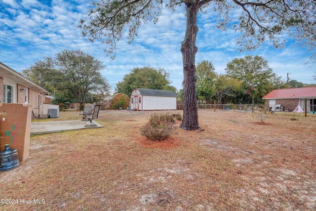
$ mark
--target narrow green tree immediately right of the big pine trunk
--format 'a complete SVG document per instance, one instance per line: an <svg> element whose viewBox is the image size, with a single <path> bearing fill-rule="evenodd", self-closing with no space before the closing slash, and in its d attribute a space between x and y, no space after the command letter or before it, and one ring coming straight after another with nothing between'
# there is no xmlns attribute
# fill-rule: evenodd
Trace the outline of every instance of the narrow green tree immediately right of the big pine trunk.
<svg viewBox="0 0 316 211"><path fill-rule="evenodd" d="M197 64L197 99L208 100L213 97L216 77L212 62L203 60Z"/></svg>

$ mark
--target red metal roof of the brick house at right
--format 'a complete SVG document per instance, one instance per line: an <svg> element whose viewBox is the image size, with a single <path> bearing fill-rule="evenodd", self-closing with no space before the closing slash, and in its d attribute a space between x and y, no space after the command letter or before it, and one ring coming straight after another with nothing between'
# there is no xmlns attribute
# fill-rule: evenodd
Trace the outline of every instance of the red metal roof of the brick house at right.
<svg viewBox="0 0 316 211"><path fill-rule="evenodd" d="M275 98L316 98L316 86L313 87L300 87L300 88L284 88L275 89L263 99L275 99Z"/></svg>

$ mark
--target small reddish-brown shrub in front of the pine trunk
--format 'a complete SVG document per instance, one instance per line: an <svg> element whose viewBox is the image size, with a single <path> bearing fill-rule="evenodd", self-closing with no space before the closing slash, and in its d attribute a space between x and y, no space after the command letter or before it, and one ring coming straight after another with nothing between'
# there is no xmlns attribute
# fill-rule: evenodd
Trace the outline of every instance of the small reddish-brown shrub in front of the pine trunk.
<svg viewBox="0 0 316 211"><path fill-rule="evenodd" d="M153 141L162 141L175 133L172 114L151 114L149 122L140 128L141 134Z"/></svg>

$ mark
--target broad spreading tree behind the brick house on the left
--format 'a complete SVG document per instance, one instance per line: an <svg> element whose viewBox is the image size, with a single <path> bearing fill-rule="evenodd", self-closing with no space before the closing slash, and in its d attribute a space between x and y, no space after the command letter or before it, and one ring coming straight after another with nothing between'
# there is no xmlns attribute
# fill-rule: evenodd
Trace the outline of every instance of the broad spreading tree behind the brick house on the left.
<svg viewBox="0 0 316 211"><path fill-rule="evenodd" d="M101 70L102 62L81 50L63 50L55 58L44 57L23 74L48 90L57 90L58 98L76 96L83 109L87 94L107 93L110 85ZM57 96L57 95L56 95Z"/></svg>

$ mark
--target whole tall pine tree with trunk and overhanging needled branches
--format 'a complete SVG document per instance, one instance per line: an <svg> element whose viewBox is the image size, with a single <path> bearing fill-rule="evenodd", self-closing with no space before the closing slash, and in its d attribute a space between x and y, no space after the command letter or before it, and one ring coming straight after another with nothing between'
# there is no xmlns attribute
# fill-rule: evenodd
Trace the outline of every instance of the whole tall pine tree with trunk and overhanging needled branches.
<svg viewBox="0 0 316 211"><path fill-rule="evenodd" d="M212 7L218 13L218 19L214 21L218 28L233 26L242 33L238 40L241 50L254 49L266 40L276 47L282 46L282 33L307 43L311 51L316 46L315 0L100 0L92 1L94 8L89 11L87 21L80 20L79 27L83 36L89 37L90 41L101 40L106 44L106 51L113 53L125 29L132 42L141 24L156 23L164 2L174 10L176 7L184 8L187 18L186 33L180 47L184 73L184 108L180 127L185 130L199 128L195 66L197 19L198 13L204 12L206 7Z"/></svg>

